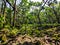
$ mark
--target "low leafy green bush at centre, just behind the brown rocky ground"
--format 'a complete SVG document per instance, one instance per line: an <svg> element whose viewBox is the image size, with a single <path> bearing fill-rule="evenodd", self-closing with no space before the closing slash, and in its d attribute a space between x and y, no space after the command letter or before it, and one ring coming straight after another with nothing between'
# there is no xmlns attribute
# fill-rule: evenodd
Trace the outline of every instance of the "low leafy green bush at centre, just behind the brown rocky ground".
<svg viewBox="0 0 60 45"><path fill-rule="evenodd" d="M31 34L32 28L33 27L31 24L23 24L22 28L20 29L20 32L21 32L21 34Z"/></svg>

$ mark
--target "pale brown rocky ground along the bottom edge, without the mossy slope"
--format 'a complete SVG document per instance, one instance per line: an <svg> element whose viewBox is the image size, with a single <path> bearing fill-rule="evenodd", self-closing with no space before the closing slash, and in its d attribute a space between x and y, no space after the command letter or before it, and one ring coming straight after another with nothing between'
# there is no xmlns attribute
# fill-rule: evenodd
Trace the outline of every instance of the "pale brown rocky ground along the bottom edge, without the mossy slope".
<svg viewBox="0 0 60 45"><path fill-rule="evenodd" d="M19 35L7 41L6 45L60 45L59 40L54 40L48 35L44 37L30 37Z"/></svg>

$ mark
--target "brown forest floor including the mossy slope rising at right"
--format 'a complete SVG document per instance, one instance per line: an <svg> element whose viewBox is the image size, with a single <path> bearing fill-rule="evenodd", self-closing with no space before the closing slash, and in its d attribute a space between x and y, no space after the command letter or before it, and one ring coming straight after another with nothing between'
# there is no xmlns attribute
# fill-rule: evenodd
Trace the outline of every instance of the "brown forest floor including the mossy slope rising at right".
<svg viewBox="0 0 60 45"><path fill-rule="evenodd" d="M50 28L45 31L41 30L42 37L30 35L17 35L8 38L0 45L60 45L60 27ZM5 39L5 37L4 37Z"/></svg>

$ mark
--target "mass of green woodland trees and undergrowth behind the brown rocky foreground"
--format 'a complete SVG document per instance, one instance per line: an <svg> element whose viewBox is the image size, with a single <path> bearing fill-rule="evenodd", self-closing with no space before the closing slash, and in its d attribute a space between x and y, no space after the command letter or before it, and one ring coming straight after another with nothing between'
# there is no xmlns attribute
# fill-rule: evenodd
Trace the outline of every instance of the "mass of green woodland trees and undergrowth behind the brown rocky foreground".
<svg viewBox="0 0 60 45"><path fill-rule="evenodd" d="M9 2L12 5L6 6L5 10L4 4L1 6L0 38L2 42L18 34L37 37L49 35L55 40L60 40L60 33L56 31L57 28L54 28L60 26L60 3L52 2L42 7L44 2L21 0L17 5L14 3L15 0L9 0ZM14 15L14 6L16 6L16 15Z"/></svg>

